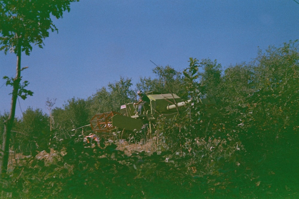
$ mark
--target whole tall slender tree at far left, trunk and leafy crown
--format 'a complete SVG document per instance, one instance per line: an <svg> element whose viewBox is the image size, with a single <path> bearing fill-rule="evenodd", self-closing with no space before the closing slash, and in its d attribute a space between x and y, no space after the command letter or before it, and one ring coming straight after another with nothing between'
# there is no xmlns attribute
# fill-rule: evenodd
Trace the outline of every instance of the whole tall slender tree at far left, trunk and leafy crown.
<svg viewBox="0 0 299 199"><path fill-rule="evenodd" d="M21 84L21 54L30 54L32 44L42 48L43 39L49 36L49 30L57 31L51 15L61 18L62 13L70 11L70 3L77 0L30 1L10 0L0 1L0 50L16 54L15 78L4 77L6 85L13 87L10 115L4 122L3 145L0 160L0 173L6 173L9 156L10 131L15 117L16 100L20 96L25 99L33 92L26 90L28 81Z"/></svg>

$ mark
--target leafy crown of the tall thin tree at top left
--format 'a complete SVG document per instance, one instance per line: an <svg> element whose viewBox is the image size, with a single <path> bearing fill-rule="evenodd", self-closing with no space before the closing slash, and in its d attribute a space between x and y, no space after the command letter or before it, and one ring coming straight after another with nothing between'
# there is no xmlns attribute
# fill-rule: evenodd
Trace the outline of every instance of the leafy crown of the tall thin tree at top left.
<svg viewBox="0 0 299 199"><path fill-rule="evenodd" d="M70 11L73 1L77 0L0 1L0 50L15 52L17 46L21 46L22 51L29 55L32 44L42 48L49 30L58 32L51 15L61 18L64 11Z"/></svg>

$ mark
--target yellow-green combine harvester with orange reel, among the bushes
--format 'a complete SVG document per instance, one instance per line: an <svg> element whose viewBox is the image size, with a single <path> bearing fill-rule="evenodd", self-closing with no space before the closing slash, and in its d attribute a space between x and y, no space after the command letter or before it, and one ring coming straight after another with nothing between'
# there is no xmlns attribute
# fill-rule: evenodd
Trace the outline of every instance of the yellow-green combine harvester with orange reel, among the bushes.
<svg viewBox="0 0 299 199"><path fill-rule="evenodd" d="M120 107L120 112L111 111L94 115L90 124L83 127L90 126L94 134L98 135L111 134L111 132L117 131L124 132L125 130L132 132L149 129L152 131L152 124L155 123L158 116L173 118L179 110L184 110L185 105L191 101L182 101L179 96L173 93L149 92L146 95L150 102L142 108L141 113L137 111L134 103L124 104ZM202 99L201 103L209 107L215 104L215 100ZM97 140L97 137L93 135L87 137Z"/></svg>

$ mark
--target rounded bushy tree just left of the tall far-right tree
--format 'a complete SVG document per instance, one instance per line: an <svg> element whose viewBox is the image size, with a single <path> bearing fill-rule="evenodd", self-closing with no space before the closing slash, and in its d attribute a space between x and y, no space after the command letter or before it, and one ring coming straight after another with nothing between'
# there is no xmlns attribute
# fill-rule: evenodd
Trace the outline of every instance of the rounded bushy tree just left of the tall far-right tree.
<svg viewBox="0 0 299 199"><path fill-rule="evenodd" d="M226 69L221 83L213 88L218 111L225 115L222 120L227 126L243 125L250 117L248 101L255 91L252 81L252 68L245 63L237 64Z"/></svg>

